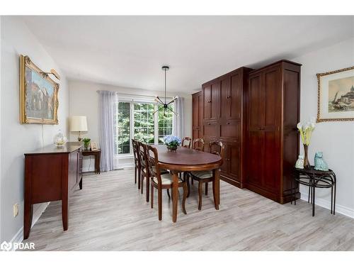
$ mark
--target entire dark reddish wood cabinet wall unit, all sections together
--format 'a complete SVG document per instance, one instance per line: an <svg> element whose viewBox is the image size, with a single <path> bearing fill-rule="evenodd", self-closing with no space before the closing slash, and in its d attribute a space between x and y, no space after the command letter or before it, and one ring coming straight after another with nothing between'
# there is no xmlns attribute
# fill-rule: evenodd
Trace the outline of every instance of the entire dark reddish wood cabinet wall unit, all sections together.
<svg viewBox="0 0 354 266"><path fill-rule="evenodd" d="M222 179L280 203L290 201L299 153L300 67L240 67L193 94L193 138L204 138L205 150L211 140L224 143Z"/></svg>

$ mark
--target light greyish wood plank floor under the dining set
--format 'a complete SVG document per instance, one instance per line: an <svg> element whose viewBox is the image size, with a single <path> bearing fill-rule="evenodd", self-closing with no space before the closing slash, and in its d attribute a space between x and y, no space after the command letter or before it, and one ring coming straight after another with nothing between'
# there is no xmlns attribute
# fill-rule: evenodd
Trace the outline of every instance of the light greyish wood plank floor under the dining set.
<svg viewBox="0 0 354 266"><path fill-rule="evenodd" d="M188 214L178 201L172 223L166 193L163 199L159 221L156 197L150 209L133 170L84 175L84 189L70 199L69 230L62 230L60 202L52 202L25 242L34 242L36 250L354 250L354 220L319 206L312 217L305 201L281 205L221 182L219 211L211 187L198 211L194 184Z"/></svg>

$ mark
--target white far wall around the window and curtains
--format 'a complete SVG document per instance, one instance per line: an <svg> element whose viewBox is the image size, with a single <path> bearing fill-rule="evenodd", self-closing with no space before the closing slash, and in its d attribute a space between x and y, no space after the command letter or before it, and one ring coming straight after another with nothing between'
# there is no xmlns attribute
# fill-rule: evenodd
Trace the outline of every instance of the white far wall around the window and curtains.
<svg viewBox="0 0 354 266"><path fill-rule="evenodd" d="M145 89L132 89L115 87L106 84L98 84L93 82L69 81L69 114L70 116L87 116L88 133L84 137L91 138L91 141L98 140L98 94L97 90L117 91L118 95L132 94L142 96L162 95L164 92L149 91ZM167 96L176 96L176 92L167 93ZM178 94L185 99L185 135L192 135L192 96L189 94ZM76 133L70 133L70 140L75 141ZM90 165L90 167L89 167ZM93 171L93 160L91 164L89 158L84 159L84 172Z"/></svg>

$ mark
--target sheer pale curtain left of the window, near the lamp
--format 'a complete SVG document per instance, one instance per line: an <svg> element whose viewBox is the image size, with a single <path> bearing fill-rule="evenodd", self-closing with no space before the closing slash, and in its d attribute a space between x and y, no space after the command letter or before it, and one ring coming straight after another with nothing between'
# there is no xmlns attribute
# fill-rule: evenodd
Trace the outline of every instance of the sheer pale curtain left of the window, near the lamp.
<svg viewBox="0 0 354 266"><path fill-rule="evenodd" d="M101 171L118 169L115 160L115 103L118 101L116 92L98 91L100 113L100 148Z"/></svg>

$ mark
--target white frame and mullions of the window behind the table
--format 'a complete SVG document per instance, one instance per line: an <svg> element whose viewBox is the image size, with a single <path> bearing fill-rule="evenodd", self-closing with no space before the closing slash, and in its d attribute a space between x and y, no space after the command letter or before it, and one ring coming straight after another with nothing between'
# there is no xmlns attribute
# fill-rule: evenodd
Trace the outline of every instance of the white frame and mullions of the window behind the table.
<svg viewBox="0 0 354 266"><path fill-rule="evenodd" d="M166 97L166 101L169 102L173 98L171 97ZM119 102L125 102L130 104L130 138L129 138L129 145L130 145L130 153L124 153L124 154L115 154L115 157L118 157L119 159L125 159L125 158L131 158L133 157L132 153L132 138L134 138L134 104L154 104L154 111L158 108L158 106L161 106L161 104L157 104L156 101L154 101L154 98L149 97L149 96L120 96L118 94L118 103ZM172 121L172 132L173 132L173 127L174 123ZM159 144L159 112L154 113L154 144Z"/></svg>

